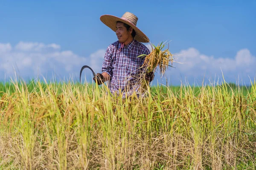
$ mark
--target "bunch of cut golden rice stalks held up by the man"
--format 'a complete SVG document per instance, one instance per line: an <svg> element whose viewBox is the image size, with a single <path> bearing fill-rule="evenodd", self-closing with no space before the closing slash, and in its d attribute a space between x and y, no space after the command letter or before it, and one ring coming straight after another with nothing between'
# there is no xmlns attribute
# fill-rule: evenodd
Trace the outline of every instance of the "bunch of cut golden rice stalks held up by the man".
<svg viewBox="0 0 256 170"><path fill-rule="evenodd" d="M166 45L165 42L164 43L161 42L161 44L157 46L151 44L152 51L150 54L148 55L142 54L138 56L138 57L145 56L145 61L142 65L142 67L145 68L145 74L150 73L152 71L154 72L157 66L159 66L160 75L163 76L166 71L166 68L168 66L172 67L173 57L171 52L169 51L169 46L166 50L163 50L165 45ZM171 65L169 65L169 62L171 62Z"/></svg>

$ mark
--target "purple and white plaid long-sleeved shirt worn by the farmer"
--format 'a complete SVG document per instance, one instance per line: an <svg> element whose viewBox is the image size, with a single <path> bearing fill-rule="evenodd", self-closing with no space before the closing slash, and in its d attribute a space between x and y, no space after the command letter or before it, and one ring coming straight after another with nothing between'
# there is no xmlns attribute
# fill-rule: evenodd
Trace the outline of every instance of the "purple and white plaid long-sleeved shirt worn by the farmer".
<svg viewBox="0 0 256 170"><path fill-rule="evenodd" d="M110 81L108 87L112 94L130 96L134 91L139 93L140 88L140 71L145 57L138 57L141 54L148 55L148 48L136 40L131 41L124 48L121 48L119 41L109 45L104 61L102 72L108 73Z"/></svg>

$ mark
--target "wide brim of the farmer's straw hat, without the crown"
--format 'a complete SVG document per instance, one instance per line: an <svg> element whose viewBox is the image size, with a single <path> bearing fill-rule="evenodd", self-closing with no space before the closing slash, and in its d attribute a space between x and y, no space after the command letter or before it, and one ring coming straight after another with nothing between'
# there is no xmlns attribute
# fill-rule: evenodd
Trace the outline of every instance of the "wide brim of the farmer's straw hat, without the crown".
<svg viewBox="0 0 256 170"><path fill-rule="evenodd" d="M149 42L148 37L142 31L140 31L140 29L137 28L137 26L134 26L134 24L130 23L127 20L123 20L122 18L113 16L113 15L102 15L100 17L100 20L102 21L102 23L104 23L106 26L108 26L109 28L111 28L115 32L116 32L116 22L117 21L121 21L123 23L126 23L129 26L131 26L131 28L133 28L134 31L136 32L136 35L134 37L135 40L137 40L139 42Z"/></svg>

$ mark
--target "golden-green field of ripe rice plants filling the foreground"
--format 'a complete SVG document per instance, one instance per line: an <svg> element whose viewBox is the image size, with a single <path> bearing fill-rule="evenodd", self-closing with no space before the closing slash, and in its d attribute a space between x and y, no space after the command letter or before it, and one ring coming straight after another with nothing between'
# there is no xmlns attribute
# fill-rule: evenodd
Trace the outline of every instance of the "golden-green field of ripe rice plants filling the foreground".
<svg viewBox="0 0 256 170"><path fill-rule="evenodd" d="M0 83L0 169L256 169L256 82L148 88Z"/></svg>

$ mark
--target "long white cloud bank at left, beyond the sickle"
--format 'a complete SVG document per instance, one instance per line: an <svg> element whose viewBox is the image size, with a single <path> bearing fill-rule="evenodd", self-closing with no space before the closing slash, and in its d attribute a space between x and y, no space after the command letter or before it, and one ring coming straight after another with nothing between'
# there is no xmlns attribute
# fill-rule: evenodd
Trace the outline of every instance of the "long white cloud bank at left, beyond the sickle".
<svg viewBox="0 0 256 170"><path fill-rule="evenodd" d="M13 76L16 71L21 77L37 77L48 73L56 73L68 77L78 75L81 66L90 62L89 57L80 57L72 51L60 51L60 45L38 42L19 42L15 48L0 44L0 72L6 77ZM4 53L3 53L4 52ZM14 71L15 69L15 71ZM3 79L4 74L0 74Z"/></svg>

